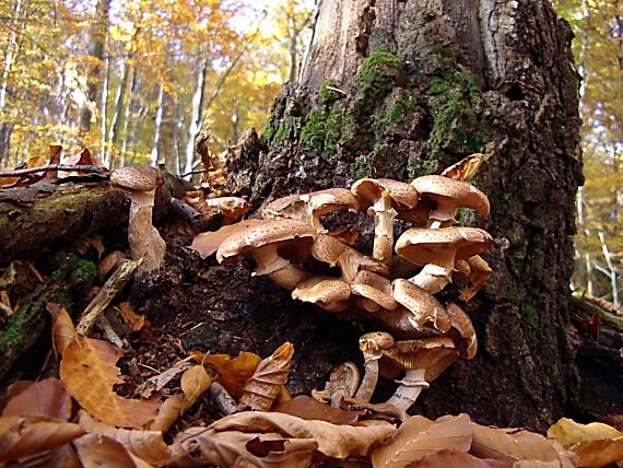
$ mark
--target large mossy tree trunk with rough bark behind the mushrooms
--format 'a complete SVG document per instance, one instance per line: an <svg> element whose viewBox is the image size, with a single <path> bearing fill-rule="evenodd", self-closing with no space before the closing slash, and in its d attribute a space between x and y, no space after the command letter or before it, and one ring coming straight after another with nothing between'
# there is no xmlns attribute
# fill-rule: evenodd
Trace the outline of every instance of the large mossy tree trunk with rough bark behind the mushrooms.
<svg viewBox="0 0 623 468"><path fill-rule="evenodd" d="M277 101L267 141L247 137L255 144L228 162L232 191L258 208L490 154L473 183L491 215L461 220L494 237L494 276L465 305L480 350L415 410L543 429L577 389L566 326L583 177L568 24L546 0L325 0L315 17L301 82Z"/></svg>

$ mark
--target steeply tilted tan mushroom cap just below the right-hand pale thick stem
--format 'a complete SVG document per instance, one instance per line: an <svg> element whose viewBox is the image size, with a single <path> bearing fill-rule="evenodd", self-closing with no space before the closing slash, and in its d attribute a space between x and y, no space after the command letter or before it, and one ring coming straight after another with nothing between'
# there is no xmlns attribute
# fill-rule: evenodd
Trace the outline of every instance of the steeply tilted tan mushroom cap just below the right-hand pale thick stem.
<svg viewBox="0 0 623 468"><path fill-rule="evenodd" d="M413 314L410 321L418 330L424 329L426 323L432 323L442 332L450 329L450 318L442 303L412 282L393 280L393 299Z"/></svg>

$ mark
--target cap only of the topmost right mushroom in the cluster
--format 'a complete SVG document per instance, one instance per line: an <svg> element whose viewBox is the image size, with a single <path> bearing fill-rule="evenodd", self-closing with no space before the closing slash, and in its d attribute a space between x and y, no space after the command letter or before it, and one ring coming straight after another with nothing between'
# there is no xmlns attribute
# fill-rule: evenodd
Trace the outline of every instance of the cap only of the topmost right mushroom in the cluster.
<svg viewBox="0 0 623 468"><path fill-rule="evenodd" d="M467 182L454 180L440 175L427 175L418 177L411 185L423 198L437 203L452 200L457 208L471 208L483 217L489 214L489 198Z"/></svg>

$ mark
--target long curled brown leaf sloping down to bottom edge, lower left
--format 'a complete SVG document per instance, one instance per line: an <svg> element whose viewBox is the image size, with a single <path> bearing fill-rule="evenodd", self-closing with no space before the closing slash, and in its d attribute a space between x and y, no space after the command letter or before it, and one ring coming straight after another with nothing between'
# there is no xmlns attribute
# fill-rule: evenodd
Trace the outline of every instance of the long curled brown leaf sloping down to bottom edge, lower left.
<svg viewBox="0 0 623 468"><path fill-rule="evenodd" d="M130 453L153 466L163 466L172 461L168 446L162 438L162 432L118 429L97 421L86 411L80 411L79 424L89 433L114 438Z"/></svg>

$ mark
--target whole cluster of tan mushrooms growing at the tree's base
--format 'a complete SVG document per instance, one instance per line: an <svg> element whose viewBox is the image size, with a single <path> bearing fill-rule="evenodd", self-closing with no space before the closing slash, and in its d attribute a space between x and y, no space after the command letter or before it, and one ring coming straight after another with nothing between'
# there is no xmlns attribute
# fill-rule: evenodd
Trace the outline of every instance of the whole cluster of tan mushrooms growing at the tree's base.
<svg viewBox="0 0 623 468"><path fill-rule="evenodd" d="M469 316L434 295L463 277L467 286L460 299L467 301L491 274L478 254L492 238L481 229L457 226L460 208L486 215L490 206L469 183L443 175L411 184L364 178L350 190L332 188L274 200L260 211L260 219L204 233L193 247L204 257L216 251L220 262L249 255L256 262L252 274L268 276L293 299L342 318L374 323L379 331L360 340L365 361L361 384L345 386L351 390L342 389L340 398L326 399L333 405L342 397L368 401L379 373L397 378L403 372L388 402L407 410L456 359L472 359L477 352ZM365 211L374 218L371 255L357 251L343 230L329 232L324 226L322 217L338 210ZM412 225L396 242L395 219Z"/></svg>

